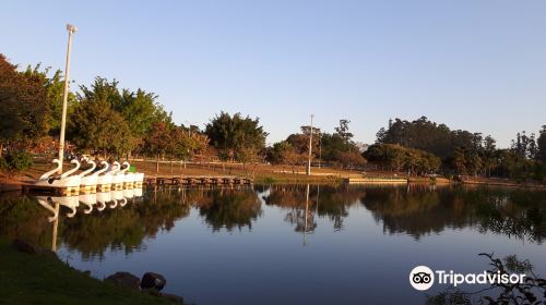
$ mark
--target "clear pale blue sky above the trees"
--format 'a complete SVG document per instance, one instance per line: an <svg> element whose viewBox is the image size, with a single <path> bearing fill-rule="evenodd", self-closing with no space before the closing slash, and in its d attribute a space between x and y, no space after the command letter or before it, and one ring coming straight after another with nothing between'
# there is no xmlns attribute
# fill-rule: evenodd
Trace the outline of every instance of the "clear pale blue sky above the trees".
<svg viewBox="0 0 546 305"><path fill-rule="evenodd" d="M3 1L0 52L143 88L178 124L260 118L268 143L422 115L507 147L546 125L545 1ZM75 86L73 86L74 89Z"/></svg>

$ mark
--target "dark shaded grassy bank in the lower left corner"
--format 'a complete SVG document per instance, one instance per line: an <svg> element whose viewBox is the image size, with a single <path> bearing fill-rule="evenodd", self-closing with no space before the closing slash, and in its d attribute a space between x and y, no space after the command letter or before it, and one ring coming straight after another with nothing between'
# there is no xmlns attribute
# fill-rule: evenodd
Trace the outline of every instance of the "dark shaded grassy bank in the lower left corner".
<svg viewBox="0 0 546 305"><path fill-rule="evenodd" d="M70 268L52 255L29 255L0 239L0 304L171 304L126 291Z"/></svg>

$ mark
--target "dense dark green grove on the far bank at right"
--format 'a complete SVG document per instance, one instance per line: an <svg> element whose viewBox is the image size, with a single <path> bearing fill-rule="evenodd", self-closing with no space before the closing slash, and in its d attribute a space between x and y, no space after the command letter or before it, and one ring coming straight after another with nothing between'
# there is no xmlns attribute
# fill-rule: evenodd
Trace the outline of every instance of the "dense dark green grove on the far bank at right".
<svg viewBox="0 0 546 305"><path fill-rule="evenodd" d="M521 132L515 135L510 148L498 149L496 141L482 133L452 131L425 117L412 122L395 119L389 122L388 129L377 133L377 143L432 154L441 159L441 169L446 174L546 179L546 126L543 126L538 137ZM367 151L365 156L371 152Z"/></svg>

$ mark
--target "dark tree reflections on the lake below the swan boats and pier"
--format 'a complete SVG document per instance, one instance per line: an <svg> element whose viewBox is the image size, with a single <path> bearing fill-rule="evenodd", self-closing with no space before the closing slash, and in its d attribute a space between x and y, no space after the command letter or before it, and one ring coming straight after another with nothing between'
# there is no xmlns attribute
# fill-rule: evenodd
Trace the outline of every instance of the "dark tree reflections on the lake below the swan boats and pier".
<svg viewBox="0 0 546 305"><path fill-rule="evenodd" d="M107 251L130 254L141 249L146 237L170 231L176 221L190 215L191 207L199 209L214 231L250 229L262 212L257 193L249 187L153 188L143 197L127 192L118 195L98 196L107 198L106 205L98 200L79 205L78 196L4 194L0 197L0 235L54 251L59 236L83 260L102 260Z"/></svg>

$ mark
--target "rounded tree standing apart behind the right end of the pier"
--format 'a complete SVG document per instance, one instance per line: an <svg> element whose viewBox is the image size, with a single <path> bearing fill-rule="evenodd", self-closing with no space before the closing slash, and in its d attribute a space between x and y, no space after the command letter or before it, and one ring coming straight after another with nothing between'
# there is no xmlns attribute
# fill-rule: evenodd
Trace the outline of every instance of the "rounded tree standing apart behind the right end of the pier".
<svg viewBox="0 0 546 305"><path fill-rule="evenodd" d="M205 134L218 151L221 159L248 160L248 152L258 152L265 147L268 133L260 125L260 120L240 113L234 115L222 111L205 127ZM250 150L249 150L250 149Z"/></svg>

